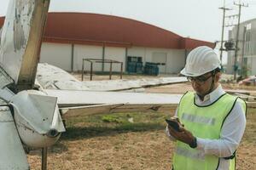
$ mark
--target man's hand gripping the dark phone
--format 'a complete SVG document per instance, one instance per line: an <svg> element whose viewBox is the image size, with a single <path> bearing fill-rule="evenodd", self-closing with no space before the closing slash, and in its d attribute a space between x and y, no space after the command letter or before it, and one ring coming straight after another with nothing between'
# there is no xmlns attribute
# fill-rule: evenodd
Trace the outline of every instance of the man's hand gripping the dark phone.
<svg viewBox="0 0 256 170"><path fill-rule="evenodd" d="M177 122L180 124L179 129L180 132L177 132L172 127L168 126L169 133L172 135L173 138L185 143L185 144L192 144L195 140L195 137L192 133L186 130L183 125L177 119Z"/></svg>

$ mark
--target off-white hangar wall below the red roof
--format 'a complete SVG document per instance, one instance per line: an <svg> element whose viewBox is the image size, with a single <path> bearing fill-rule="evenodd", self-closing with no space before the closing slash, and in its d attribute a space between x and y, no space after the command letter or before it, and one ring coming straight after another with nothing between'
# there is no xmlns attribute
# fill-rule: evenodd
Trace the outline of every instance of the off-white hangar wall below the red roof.
<svg viewBox="0 0 256 170"><path fill-rule="evenodd" d="M72 71L72 51L73 51L73 71L81 71L83 59L102 59L102 46L78 45L43 42L40 62L47 62L56 65L65 71ZM105 59L113 59L123 62L125 71L126 59L125 48L105 47ZM160 73L178 73L185 65L185 51L183 49L166 48L127 48L127 56L137 56L146 62L165 63L160 65ZM165 59L166 56L166 59ZM90 63L84 61L85 71L90 71ZM104 71L109 71L109 64L104 65ZM102 71L102 63L94 63L93 71ZM113 64L113 71L120 71L119 64Z"/></svg>

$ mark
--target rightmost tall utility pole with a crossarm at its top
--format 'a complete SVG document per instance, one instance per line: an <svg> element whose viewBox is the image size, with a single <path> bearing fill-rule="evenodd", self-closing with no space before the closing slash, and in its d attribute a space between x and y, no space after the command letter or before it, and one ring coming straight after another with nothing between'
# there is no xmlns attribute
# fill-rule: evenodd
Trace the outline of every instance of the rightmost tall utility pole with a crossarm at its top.
<svg viewBox="0 0 256 170"><path fill-rule="evenodd" d="M236 72L238 69L237 65L237 52L238 52L238 42L239 42L239 27L240 27L240 18L241 18L241 7L248 7L248 5L245 5L244 3L234 3L234 5L239 7L238 12L238 23L237 23L237 30L236 30L236 48L235 48L235 62L234 62L234 80L236 80Z"/></svg>

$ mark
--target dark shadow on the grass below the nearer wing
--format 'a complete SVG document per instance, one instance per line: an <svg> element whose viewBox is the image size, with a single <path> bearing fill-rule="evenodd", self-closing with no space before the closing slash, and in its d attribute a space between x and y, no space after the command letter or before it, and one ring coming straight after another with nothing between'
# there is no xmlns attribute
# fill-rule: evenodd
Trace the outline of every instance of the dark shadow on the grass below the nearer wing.
<svg viewBox="0 0 256 170"><path fill-rule="evenodd" d="M164 130L165 126L160 123L125 123L113 127L67 127L66 133L61 136L62 140L90 139L99 136L113 136L119 133L147 132Z"/></svg>

